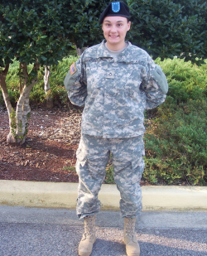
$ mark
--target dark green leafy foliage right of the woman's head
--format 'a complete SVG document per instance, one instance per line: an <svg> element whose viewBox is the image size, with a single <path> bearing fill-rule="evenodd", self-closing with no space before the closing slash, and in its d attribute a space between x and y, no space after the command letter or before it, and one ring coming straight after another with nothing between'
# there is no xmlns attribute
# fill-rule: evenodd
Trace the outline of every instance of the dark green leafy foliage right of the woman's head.
<svg viewBox="0 0 207 256"><path fill-rule="evenodd" d="M207 57L205 0L128 0L132 29L128 38L153 59L161 57L203 63Z"/></svg>

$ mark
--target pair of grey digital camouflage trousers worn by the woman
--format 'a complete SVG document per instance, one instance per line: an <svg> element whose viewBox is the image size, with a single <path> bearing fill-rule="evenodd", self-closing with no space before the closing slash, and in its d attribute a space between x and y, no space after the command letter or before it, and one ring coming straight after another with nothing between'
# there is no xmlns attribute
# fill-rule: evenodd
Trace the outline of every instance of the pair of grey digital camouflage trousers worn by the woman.
<svg viewBox="0 0 207 256"><path fill-rule="evenodd" d="M135 138L99 138L82 134L76 152L79 175L77 215L79 219L99 212L98 194L105 178L105 168L112 155L113 178L120 191L123 217L135 217L142 210L139 181L144 170L144 143Z"/></svg>

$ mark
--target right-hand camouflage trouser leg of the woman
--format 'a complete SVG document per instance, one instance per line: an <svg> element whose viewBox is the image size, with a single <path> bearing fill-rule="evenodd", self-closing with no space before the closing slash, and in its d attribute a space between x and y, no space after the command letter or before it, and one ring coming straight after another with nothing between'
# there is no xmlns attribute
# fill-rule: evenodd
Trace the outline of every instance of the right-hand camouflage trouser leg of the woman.
<svg viewBox="0 0 207 256"><path fill-rule="evenodd" d="M139 182L144 170L142 136L123 138L114 143L113 176L120 191L120 210L123 217L136 217L142 210L142 191Z"/></svg>

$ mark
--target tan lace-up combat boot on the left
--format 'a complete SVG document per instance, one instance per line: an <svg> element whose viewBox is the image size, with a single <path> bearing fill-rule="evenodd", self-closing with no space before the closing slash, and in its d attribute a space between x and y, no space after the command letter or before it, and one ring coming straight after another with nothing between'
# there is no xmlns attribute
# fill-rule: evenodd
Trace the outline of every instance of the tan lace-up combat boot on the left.
<svg viewBox="0 0 207 256"><path fill-rule="evenodd" d="M95 243L95 215L84 218L84 234L79 243L79 256L89 256Z"/></svg>

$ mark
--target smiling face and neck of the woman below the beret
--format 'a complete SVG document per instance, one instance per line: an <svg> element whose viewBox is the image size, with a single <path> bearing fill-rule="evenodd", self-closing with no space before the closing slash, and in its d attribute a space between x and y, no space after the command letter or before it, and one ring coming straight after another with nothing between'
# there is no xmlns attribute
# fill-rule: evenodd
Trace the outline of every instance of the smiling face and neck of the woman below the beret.
<svg viewBox="0 0 207 256"><path fill-rule="evenodd" d="M125 47L125 37L129 31L131 22L126 17L105 17L102 24L103 36L107 46L112 51L120 51Z"/></svg>

